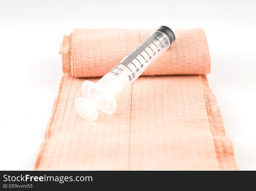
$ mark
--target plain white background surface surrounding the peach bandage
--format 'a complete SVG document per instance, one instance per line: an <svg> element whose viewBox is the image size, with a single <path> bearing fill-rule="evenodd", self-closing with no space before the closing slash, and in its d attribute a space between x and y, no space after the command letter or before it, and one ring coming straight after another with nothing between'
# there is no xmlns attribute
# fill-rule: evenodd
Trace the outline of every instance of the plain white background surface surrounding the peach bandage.
<svg viewBox="0 0 256 191"><path fill-rule="evenodd" d="M61 81L61 35L203 27L209 84L241 170L256 170L255 1L1 1L0 170L31 170Z"/></svg>

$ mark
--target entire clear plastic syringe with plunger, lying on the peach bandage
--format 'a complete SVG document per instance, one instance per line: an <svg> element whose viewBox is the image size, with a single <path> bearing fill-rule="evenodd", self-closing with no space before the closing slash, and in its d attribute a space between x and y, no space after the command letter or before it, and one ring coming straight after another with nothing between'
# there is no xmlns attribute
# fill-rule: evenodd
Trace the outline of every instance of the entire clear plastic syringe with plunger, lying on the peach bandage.
<svg viewBox="0 0 256 191"><path fill-rule="evenodd" d="M83 97L75 101L79 115L88 121L95 121L98 110L113 114L116 109L115 96L131 85L174 41L173 31L160 26L97 83L84 81Z"/></svg>

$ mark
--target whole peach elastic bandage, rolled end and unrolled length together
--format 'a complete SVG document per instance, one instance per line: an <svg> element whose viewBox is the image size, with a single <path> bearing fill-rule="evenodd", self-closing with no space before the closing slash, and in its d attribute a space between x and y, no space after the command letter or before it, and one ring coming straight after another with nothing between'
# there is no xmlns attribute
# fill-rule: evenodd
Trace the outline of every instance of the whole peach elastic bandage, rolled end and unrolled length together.
<svg viewBox="0 0 256 191"><path fill-rule="evenodd" d="M180 30L147 76L116 97L113 115L99 111L88 122L77 114L83 81L99 80L151 32L75 29L64 37L67 73L35 170L237 170L205 76L210 58L202 29Z"/></svg>

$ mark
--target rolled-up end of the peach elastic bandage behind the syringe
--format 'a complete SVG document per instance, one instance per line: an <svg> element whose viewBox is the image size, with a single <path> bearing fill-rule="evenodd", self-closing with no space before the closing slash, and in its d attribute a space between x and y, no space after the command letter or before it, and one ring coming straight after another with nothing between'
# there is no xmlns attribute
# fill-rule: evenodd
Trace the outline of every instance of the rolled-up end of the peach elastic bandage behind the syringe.
<svg viewBox="0 0 256 191"><path fill-rule="evenodd" d="M154 30L75 29L63 38L63 72L71 72L74 77L102 77L152 32ZM175 35L177 40L171 48L142 75L210 72L204 30L177 30Z"/></svg>

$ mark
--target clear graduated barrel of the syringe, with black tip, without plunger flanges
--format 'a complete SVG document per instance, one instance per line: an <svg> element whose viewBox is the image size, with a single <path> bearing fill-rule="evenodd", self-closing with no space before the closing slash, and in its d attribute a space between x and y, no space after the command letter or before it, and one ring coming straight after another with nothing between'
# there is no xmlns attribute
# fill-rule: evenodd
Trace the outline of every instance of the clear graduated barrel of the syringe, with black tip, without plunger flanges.
<svg viewBox="0 0 256 191"><path fill-rule="evenodd" d="M166 26L160 26L106 73L97 84L115 97L133 83L174 41L173 31Z"/></svg>

